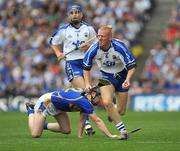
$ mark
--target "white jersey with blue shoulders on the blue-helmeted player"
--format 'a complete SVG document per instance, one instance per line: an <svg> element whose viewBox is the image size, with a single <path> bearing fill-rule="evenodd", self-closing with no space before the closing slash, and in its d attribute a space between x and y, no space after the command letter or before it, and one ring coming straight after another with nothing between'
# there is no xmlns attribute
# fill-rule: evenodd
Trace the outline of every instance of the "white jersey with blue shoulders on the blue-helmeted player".
<svg viewBox="0 0 180 151"><path fill-rule="evenodd" d="M52 34L50 44L63 44L64 54L70 52L71 50L77 49L71 54L67 55L66 60L78 60L84 58L84 52L78 49L78 47L94 36L96 36L96 32L91 25L81 22L81 26L76 28L73 24L69 23L60 26Z"/></svg>

